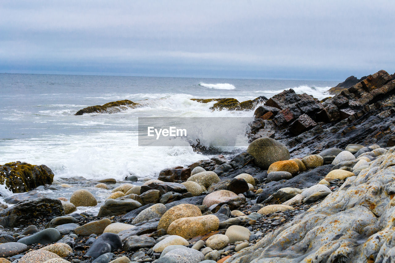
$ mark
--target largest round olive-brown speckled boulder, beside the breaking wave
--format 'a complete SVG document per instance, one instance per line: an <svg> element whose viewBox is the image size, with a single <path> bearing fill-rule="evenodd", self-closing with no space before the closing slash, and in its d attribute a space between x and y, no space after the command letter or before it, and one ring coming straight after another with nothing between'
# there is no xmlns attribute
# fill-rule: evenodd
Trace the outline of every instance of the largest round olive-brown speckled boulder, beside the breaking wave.
<svg viewBox="0 0 395 263"><path fill-rule="evenodd" d="M256 139L250 143L247 152L254 157L255 164L263 169L268 169L272 163L290 159L285 145L271 138Z"/></svg>

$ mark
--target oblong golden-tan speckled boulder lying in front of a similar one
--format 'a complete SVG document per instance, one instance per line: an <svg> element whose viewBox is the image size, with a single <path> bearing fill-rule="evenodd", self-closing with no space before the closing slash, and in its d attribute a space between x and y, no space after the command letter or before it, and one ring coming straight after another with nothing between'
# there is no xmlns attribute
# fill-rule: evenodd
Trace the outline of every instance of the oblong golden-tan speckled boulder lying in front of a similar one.
<svg viewBox="0 0 395 263"><path fill-rule="evenodd" d="M209 214L206 216L179 218L169 225L167 233L190 239L210 231L216 231L218 227L218 218Z"/></svg>

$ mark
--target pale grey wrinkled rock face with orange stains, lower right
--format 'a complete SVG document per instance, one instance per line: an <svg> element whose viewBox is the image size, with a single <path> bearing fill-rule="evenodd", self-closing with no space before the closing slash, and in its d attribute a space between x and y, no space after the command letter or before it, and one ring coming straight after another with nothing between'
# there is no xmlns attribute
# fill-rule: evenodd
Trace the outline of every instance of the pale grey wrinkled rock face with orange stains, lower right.
<svg viewBox="0 0 395 263"><path fill-rule="evenodd" d="M339 191L226 262L393 262L395 147Z"/></svg>

